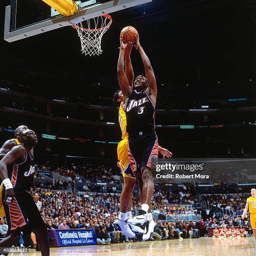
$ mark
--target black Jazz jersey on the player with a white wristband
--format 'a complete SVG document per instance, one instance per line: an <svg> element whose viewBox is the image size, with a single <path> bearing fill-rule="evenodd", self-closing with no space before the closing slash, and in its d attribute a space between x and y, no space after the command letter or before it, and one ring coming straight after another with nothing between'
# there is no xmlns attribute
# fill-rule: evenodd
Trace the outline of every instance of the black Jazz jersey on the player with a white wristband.
<svg viewBox="0 0 256 256"><path fill-rule="evenodd" d="M23 146L22 144L20 146ZM33 152L29 154L26 150L26 159L21 164L10 164L8 169L8 178L10 179L14 191L30 190L33 187L35 164L33 161Z"/></svg>

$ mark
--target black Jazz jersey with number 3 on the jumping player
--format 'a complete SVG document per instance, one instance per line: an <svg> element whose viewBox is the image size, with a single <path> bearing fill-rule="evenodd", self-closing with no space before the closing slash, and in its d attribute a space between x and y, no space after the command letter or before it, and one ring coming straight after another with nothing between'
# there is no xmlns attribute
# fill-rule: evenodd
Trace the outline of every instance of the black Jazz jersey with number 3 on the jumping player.
<svg viewBox="0 0 256 256"><path fill-rule="evenodd" d="M155 129L155 105L146 91L133 90L126 106L126 131L129 135L150 133Z"/></svg>

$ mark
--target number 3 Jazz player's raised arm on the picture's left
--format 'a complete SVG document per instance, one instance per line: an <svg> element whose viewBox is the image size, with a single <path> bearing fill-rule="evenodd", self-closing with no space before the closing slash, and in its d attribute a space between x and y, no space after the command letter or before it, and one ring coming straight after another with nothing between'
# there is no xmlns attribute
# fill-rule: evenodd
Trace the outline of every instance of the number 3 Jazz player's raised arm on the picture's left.
<svg viewBox="0 0 256 256"><path fill-rule="evenodd" d="M123 95L127 97L131 94L132 88L129 86L128 79L124 72L124 54L125 49L127 47L127 44L123 42L123 36L120 37L120 52L119 52L119 58L118 58L118 83L120 86L121 91L123 92Z"/></svg>

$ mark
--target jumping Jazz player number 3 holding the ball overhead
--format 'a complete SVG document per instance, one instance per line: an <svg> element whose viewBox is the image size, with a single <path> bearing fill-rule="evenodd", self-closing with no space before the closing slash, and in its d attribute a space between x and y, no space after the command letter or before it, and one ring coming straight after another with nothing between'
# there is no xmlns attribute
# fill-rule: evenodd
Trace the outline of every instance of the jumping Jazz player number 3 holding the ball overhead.
<svg viewBox="0 0 256 256"><path fill-rule="evenodd" d="M127 220L127 222L132 225L145 225L143 241L146 241L153 235L155 227L154 220L152 220L152 215L150 214L150 201L154 192L151 167L157 163L158 157L158 141L154 131L157 87L154 71L148 56L140 45L139 37L137 37L135 48L141 55L146 77L139 75L134 81L133 88L129 85L124 71L124 53L127 46L128 43L123 41L123 37L120 37L118 82L125 97L128 157L133 174L139 187L142 188L141 210L138 210L138 214Z"/></svg>

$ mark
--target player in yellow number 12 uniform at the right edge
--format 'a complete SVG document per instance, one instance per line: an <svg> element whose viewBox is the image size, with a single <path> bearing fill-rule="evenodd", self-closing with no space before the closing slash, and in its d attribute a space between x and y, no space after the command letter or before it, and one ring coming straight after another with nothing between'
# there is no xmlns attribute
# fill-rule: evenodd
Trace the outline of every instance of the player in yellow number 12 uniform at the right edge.
<svg viewBox="0 0 256 256"><path fill-rule="evenodd" d="M255 239L255 248L256 248L256 189L251 189L251 197L246 200L246 207L243 210L242 219L244 219L244 215L246 215L247 211L251 213L250 222L251 228L253 229L253 235Z"/></svg>

